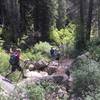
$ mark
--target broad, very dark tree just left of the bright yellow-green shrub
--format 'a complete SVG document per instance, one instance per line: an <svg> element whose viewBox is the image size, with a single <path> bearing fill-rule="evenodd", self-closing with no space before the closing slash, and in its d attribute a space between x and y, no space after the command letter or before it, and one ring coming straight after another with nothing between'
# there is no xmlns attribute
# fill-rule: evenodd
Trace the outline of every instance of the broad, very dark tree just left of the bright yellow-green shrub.
<svg viewBox="0 0 100 100"><path fill-rule="evenodd" d="M53 0L35 0L34 29L42 33L41 41L49 41L49 33L55 20L54 13Z"/></svg>

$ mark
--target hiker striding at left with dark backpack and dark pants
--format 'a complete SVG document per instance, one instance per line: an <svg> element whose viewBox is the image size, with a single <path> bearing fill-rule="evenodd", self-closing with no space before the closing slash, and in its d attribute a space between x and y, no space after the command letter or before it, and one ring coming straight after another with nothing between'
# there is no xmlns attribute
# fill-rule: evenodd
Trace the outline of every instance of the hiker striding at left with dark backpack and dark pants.
<svg viewBox="0 0 100 100"><path fill-rule="evenodd" d="M25 78L23 69L20 66L20 50L17 50L16 47L13 47L12 50L10 51L9 63L12 66L11 72L7 74L5 77L8 77L11 73L15 72L17 69L18 71L21 71L22 77Z"/></svg>

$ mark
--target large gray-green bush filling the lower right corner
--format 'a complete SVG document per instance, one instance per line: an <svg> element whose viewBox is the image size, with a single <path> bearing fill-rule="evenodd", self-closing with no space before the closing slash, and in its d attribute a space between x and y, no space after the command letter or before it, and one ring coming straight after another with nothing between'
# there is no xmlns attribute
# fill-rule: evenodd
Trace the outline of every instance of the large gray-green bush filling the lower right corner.
<svg viewBox="0 0 100 100"><path fill-rule="evenodd" d="M73 68L74 76L73 94L84 100L99 100L100 91L100 65L99 63L87 59L80 60ZM85 99L87 97L92 99ZM95 99L96 98L96 99Z"/></svg>

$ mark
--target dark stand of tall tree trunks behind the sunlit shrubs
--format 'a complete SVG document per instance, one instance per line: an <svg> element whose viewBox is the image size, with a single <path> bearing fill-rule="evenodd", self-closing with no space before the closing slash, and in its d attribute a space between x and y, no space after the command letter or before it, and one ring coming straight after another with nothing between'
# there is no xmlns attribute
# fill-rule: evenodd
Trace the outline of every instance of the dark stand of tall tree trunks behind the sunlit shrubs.
<svg viewBox="0 0 100 100"><path fill-rule="evenodd" d="M92 37L100 36L99 0L0 0L0 37L4 46L26 47L39 41L52 42L52 30L76 25L76 49L83 50ZM22 44L21 44L22 45Z"/></svg>

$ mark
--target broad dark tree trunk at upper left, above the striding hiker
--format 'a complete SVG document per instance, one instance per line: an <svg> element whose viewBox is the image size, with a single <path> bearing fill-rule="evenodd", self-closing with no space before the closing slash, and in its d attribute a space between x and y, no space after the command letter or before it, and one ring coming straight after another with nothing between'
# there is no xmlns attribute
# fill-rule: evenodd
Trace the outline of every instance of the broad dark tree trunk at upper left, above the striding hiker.
<svg viewBox="0 0 100 100"><path fill-rule="evenodd" d="M20 4L18 0L4 0L4 24L9 31L8 40L17 43L20 35Z"/></svg>

